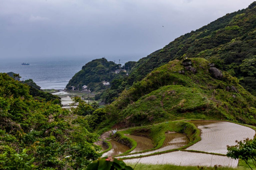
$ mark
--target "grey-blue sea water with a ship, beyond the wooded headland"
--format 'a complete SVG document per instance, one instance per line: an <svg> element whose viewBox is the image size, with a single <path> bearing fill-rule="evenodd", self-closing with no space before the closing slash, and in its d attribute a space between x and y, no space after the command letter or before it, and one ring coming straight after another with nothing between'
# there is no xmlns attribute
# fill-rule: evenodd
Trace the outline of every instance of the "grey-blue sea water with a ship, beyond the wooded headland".
<svg viewBox="0 0 256 170"><path fill-rule="evenodd" d="M20 60L7 60L0 63L0 72L12 71L19 74L21 80L33 79L41 89L64 89L74 74L89 61L91 59L52 59L28 61L30 65L21 65Z"/></svg>

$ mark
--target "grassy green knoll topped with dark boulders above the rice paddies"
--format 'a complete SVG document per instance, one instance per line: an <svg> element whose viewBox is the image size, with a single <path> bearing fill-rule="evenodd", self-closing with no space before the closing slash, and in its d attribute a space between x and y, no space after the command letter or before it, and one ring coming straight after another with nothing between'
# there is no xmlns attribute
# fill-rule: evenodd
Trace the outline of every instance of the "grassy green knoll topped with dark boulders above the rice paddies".
<svg viewBox="0 0 256 170"><path fill-rule="evenodd" d="M255 125L255 96L210 64L190 58L155 69L105 107L109 121L126 126L195 118Z"/></svg>

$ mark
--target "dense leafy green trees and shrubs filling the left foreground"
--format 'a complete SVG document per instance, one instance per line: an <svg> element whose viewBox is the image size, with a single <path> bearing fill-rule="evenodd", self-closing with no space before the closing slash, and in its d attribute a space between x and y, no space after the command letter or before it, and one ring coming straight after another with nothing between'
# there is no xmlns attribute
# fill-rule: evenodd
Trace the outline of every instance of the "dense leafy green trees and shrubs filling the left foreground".
<svg viewBox="0 0 256 170"><path fill-rule="evenodd" d="M29 86L0 74L0 169L83 169L101 156L78 100L66 110L29 95ZM81 110L83 111L81 113Z"/></svg>

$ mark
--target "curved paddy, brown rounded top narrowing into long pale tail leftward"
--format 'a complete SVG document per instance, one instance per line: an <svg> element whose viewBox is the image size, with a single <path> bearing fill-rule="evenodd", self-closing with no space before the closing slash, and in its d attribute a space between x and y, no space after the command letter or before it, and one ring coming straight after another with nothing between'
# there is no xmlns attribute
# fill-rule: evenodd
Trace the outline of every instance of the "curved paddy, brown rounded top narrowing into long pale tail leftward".
<svg viewBox="0 0 256 170"><path fill-rule="evenodd" d="M188 139L185 135L182 133L177 133L177 132L168 132L165 133L165 141L163 143L163 146L159 149L149 151L149 152L143 152L143 153L137 153L137 154L131 154L131 155L125 155L121 156L122 157L134 157L134 156L141 156L141 155L148 155L156 152L162 152L162 151L167 151L171 149L177 149L180 147L183 147L188 144Z"/></svg>

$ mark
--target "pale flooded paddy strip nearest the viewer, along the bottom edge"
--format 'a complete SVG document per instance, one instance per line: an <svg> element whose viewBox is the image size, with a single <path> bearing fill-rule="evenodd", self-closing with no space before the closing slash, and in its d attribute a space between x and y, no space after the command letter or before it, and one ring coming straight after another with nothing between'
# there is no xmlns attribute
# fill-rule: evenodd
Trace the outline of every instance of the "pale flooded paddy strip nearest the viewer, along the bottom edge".
<svg viewBox="0 0 256 170"><path fill-rule="evenodd" d="M143 164L172 164L180 166L229 166L237 167L238 160L227 156L212 155L207 153L174 151L158 155L151 155L139 158L124 160L125 163L143 163Z"/></svg>

